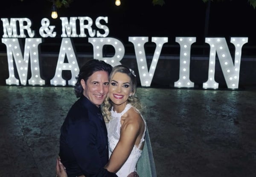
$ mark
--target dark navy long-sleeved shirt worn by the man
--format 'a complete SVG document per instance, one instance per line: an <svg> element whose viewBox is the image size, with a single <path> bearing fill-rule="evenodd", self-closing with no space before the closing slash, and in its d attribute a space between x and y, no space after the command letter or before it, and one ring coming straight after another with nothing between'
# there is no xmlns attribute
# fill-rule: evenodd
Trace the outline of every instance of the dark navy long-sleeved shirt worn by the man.
<svg viewBox="0 0 256 177"><path fill-rule="evenodd" d="M61 162L68 177L117 177L103 167L108 163L108 133L100 108L81 96L61 126Z"/></svg>

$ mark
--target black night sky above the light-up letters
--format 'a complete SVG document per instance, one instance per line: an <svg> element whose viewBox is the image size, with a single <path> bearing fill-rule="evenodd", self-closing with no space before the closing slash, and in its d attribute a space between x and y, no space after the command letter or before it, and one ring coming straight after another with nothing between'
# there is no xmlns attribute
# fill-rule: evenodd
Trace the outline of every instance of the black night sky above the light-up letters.
<svg viewBox="0 0 256 177"><path fill-rule="evenodd" d="M197 44L205 44L205 37L248 37L246 45L256 45L256 9L247 0L226 0L210 4L209 30L205 36L207 4L202 0L166 0L161 6L154 6L151 0L74 0L69 8L58 9L58 17L108 16L108 37L129 43L129 36L169 37L169 44L177 44L175 37L197 37ZM51 19L52 3L47 0L8 0L1 2L0 17L27 17L32 20L32 29L38 30L41 19L46 17L50 25L56 26L61 35L61 20ZM0 35L3 34L1 22Z"/></svg>

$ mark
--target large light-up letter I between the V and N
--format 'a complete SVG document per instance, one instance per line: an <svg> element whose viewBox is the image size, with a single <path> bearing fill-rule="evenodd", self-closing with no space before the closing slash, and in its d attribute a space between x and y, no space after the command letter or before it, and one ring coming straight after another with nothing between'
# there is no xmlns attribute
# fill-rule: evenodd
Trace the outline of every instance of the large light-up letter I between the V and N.
<svg viewBox="0 0 256 177"><path fill-rule="evenodd" d="M174 83L174 87L194 87L194 82L189 79L190 49L196 41L195 37L176 37L180 44L180 78Z"/></svg>

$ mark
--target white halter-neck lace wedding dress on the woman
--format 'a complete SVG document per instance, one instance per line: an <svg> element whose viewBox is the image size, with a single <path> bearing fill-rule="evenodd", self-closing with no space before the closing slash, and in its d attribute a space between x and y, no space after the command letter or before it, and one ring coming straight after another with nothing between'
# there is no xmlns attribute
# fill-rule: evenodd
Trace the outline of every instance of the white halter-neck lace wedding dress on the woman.
<svg viewBox="0 0 256 177"><path fill-rule="evenodd" d="M132 107L131 104L127 104L125 109L121 113L114 112L112 107L112 110L111 110L112 119L111 121L109 121L109 123L106 124L108 129L109 157L111 156L111 153L115 149L116 144L118 143L118 140L120 138L121 116L124 115L125 112L127 112L131 107ZM119 171L116 172L116 175L118 177L127 177L128 174L130 174L133 171L136 171L136 164L142 153L142 150L140 147L143 141L145 140L144 136L146 131L146 122L144 119L143 121L145 124L145 130L143 133L143 137L140 140L140 144L138 147L134 145L128 159L125 161L121 169L119 169Z"/></svg>

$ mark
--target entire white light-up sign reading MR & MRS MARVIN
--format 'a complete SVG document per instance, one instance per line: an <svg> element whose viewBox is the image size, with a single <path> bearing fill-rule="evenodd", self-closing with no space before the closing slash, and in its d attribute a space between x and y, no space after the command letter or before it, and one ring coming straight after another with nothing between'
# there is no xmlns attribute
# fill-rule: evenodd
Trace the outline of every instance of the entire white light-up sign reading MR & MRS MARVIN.
<svg viewBox="0 0 256 177"><path fill-rule="evenodd" d="M50 25L49 19L43 18L41 27L38 30L42 38L34 38L35 31L32 30L30 19L1 18L1 20L3 22L2 43L6 45L9 69L9 78L6 79L6 84L44 85L45 81L40 75L40 51L38 51L38 45L42 43L42 38L57 36L55 26ZM72 43L73 37L88 37L88 42L93 45L93 58L104 60L112 66L121 64L121 60L125 56L125 46L119 39L108 37L108 17L97 17L95 21L90 17L60 17L60 20L62 41L55 76L50 80L51 85L65 86L76 83L79 65L75 53L76 50ZM80 31L80 34L78 34L78 31ZM24 48L20 45L22 43L20 38L25 40ZM155 43L156 48L149 68L144 48L145 43L148 42L148 37L128 37L128 41L134 45L141 85L150 87L163 45L168 42L168 37L151 37L150 41ZM196 37L176 37L175 42L180 45L180 68L179 79L174 82L174 86L178 88L193 88L194 82L189 79L189 68L191 46L196 42ZM242 46L248 42L248 38L231 37L230 42L235 46L234 62L225 38L207 37L205 42L209 44L210 52L208 80L203 83L203 88L218 88L218 83L215 81L215 61L218 56L227 87L229 89L237 89L239 86ZM113 56L103 57L104 45L113 47L115 51ZM29 64L31 78L28 78ZM17 73L15 73L16 70ZM67 81L62 78L63 70L71 72L70 80Z"/></svg>

